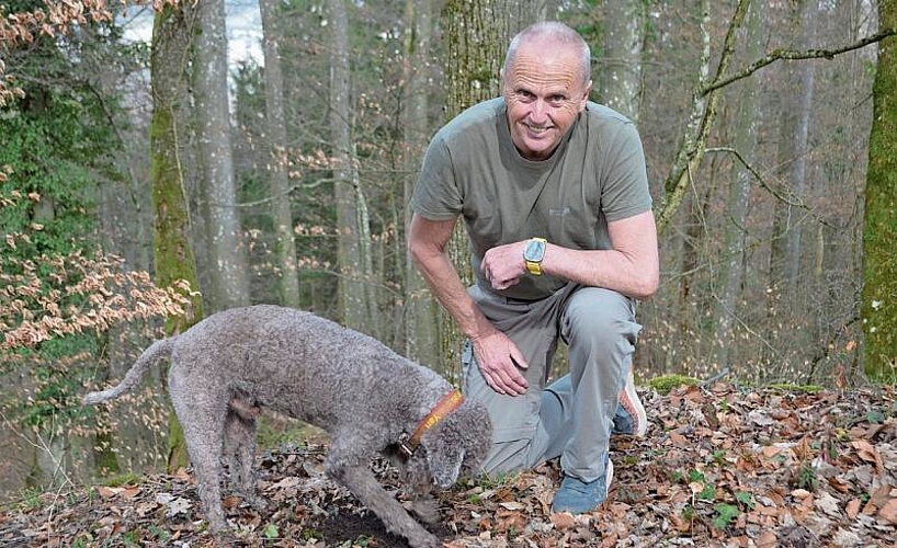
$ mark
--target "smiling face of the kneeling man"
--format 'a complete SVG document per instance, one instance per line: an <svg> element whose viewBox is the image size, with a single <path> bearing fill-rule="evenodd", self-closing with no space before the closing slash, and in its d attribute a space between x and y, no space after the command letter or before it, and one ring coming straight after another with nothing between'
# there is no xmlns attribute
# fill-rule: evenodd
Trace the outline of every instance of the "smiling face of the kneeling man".
<svg viewBox="0 0 897 548"><path fill-rule="evenodd" d="M583 82L569 48L521 44L502 75L511 139L527 160L552 156L586 107L592 82Z"/></svg>

